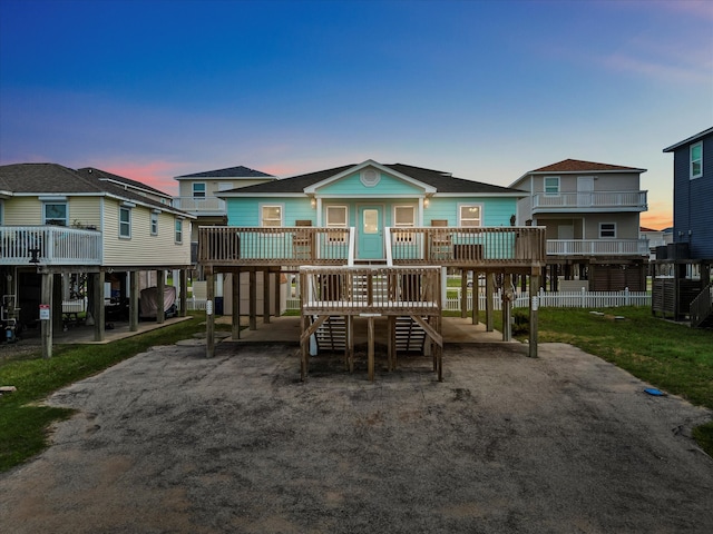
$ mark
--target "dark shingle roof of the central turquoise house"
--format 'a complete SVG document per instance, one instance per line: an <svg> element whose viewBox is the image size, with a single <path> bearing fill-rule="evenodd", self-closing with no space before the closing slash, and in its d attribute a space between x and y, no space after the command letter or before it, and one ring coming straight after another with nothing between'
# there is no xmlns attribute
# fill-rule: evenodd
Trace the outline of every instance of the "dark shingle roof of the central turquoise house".
<svg viewBox="0 0 713 534"><path fill-rule="evenodd" d="M371 161L371 160L368 160ZM374 162L375 164L375 162ZM468 194L468 195L520 195L522 191L509 187L494 186L482 184L480 181L467 180L465 178L455 178L450 172L440 170L424 169L422 167L413 167L404 164L387 164L380 167L392 170L399 175L403 175L416 181L420 181L430 188L436 189L436 194ZM226 197L243 195L275 195L275 194L304 194L310 186L314 186L332 177L349 172L351 169L360 169L364 164L350 164L333 169L319 170L306 175L293 176L291 178L276 179L265 184L256 184L254 186L243 187L240 189L231 189L229 191L221 191L219 196Z"/></svg>

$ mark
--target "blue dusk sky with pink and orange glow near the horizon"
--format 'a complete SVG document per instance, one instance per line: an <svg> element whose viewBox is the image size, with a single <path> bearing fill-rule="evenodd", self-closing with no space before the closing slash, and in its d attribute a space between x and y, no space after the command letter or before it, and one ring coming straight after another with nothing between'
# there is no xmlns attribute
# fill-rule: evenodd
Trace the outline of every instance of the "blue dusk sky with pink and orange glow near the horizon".
<svg viewBox="0 0 713 534"><path fill-rule="evenodd" d="M648 169L713 126L713 2L0 0L0 164L177 194L243 165L375 159L509 186L563 159Z"/></svg>

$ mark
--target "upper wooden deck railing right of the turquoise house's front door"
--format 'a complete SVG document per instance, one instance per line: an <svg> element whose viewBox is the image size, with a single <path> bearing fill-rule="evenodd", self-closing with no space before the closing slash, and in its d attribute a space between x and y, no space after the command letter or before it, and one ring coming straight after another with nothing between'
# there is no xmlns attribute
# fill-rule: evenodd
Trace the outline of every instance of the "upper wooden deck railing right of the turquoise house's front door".
<svg viewBox="0 0 713 534"><path fill-rule="evenodd" d="M545 228L387 228L387 257L393 265L544 265Z"/></svg>

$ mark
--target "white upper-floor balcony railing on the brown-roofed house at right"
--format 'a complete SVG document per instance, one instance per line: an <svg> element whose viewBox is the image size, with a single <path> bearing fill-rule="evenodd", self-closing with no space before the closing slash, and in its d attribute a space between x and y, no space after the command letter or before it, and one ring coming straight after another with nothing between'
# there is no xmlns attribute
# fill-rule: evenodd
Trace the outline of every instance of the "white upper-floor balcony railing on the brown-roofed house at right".
<svg viewBox="0 0 713 534"><path fill-rule="evenodd" d="M536 194L533 211L550 210L646 210L646 191L587 191L560 192L558 195Z"/></svg>

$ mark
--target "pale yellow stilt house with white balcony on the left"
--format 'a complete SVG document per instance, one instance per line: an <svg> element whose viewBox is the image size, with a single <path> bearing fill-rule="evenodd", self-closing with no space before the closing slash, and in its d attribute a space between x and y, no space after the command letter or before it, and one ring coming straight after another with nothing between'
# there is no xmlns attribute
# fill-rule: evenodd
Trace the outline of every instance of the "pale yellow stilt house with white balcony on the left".
<svg viewBox="0 0 713 534"><path fill-rule="evenodd" d="M191 220L168 197L134 180L94 168L56 164L0 167L0 270L3 320L39 320L62 326L64 296L72 275L86 274L95 338L104 338L105 283L127 304L130 327L138 323L138 274L166 270L185 285L191 268ZM186 291L182 291L185 299ZM185 310L185 300L183 300ZM157 316L163 320L163 309ZM51 329L50 329L51 333ZM46 347L51 349L50 346Z"/></svg>

